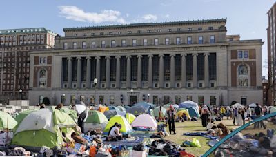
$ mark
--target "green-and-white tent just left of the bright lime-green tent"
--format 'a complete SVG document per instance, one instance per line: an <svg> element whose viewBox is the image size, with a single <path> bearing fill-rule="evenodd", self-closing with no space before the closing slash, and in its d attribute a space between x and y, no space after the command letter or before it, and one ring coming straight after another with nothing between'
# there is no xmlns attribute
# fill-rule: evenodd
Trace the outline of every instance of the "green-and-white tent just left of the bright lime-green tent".
<svg viewBox="0 0 276 157"><path fill-rule="evenodd" d="M90 129L101 129L103 131L108 124L108 118L99 111L88 111L88 117L83 123L84 132L88 132Z"/></svg>

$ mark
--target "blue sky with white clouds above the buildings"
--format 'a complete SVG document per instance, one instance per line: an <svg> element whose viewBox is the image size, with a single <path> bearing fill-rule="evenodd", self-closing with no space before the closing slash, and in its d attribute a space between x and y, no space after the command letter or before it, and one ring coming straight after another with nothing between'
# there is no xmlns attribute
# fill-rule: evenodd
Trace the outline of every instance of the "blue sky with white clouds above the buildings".
<svg viewBox="0 0 276 157"><path fill-rule="evenodd" d="M268 10L275 0L2 0L1 29L63 28L227 18L227 34L262 39L267 76Z"/></svg>

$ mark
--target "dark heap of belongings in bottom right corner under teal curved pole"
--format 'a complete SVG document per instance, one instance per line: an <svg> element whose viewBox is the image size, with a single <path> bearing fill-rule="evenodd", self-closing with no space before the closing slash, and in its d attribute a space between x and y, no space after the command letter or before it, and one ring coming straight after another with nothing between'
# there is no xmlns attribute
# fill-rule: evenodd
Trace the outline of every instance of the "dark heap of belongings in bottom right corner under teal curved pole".
<svg viewBox="0 0 276 157"><path fill-rule="evenodd" d="M267 134L250 135L239 132L219 145L215 156L276 156L276 135L274 129Z"/></svg>

